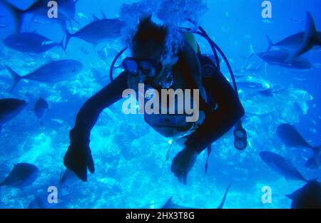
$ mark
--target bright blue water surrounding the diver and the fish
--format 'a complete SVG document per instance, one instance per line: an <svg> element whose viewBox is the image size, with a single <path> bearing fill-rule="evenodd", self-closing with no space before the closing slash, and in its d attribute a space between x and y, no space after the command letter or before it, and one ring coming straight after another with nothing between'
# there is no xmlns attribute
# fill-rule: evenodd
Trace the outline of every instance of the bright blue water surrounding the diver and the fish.
<svg viewBox="0 0 321 223"><path fill-rule="evenodd" d="M10 2L21 8L31 3L29 0ZM133 2L136 1L80 0L76 4L75 16L78 24L72 22L73 29L75 31L91 22L93 14L101 18L101 10L108 18L115 18L121 15L122 4ZM148 2L151 5L153 1ZM173 4L177 2L173 0ZM184 2L190 4L186 5L187 9L195 6L192 0ZM208 10L194 16L198 16L200 25L223 49L233 69L237 70L245 63L241 58L250 55L251 45L255 52L265 51L266 33L276 42L303 31L306 11L311 12L317 29L321 30L321 1L271 2L272 19L262 18L261 0L209 0ZM139 15L146 8L140 10L126 11L123 16ZM0 24L3 25L0 26L0 38L3 39L13 33L14 28L9 12L2 8L0 12L3 14L0 17ZM31 23L28 30L57 42L63 38L60 26L51 21L41 22L41 18ZM73 32L71 28L70 31ZM78 110L91 95L109 83L108 71L113 58L124 46L124 38L126 36L120 36L115 41L96 47L73 38L66 54L60 48L54 48L40 56L19 53L0 43L1 63L21 75L52 59L73 58L84 64L81 73L72 80L56 84L23 81L12 93L9 93L11 77L0 68L0 98L20 98L29 102L29 107L4 125L2 130L0 180L19 162L29 162L41 170L36 182L24 190L1 188L0 208L26 208L35 196L46 193L48 187L57 184L64 170L63 155L69 145L68 132L73 128ZM198 38L198 41L204 53L211 53L203 39ZM243 125L248 131L249 146L242 152L236 150L232 131L227 133L213 143L208 174L204 172L206 152L203 152L190 171L187 185L178 182L170 172L171 162L165 161L168 139L144 123L142 115L123 115L122 101L107 108L91 133L96 173L88 175L88 182L73 185L71 195L60 207L141 208L153 203L160 207L168 197L173 196L174 202L188 207L215 208L225 188L232 183L225 208L289 208L291 201L285 195L302 187L304 182L285 180L270 170L258 154L266 150L277 152L291 160L307 179L320 177L320 170L307 170L304 166L305 158L310 157L310 150L287 148L275 135L278 125L290 123L313 145L321 144L321 52L308 52L304 56L315 65L311 71L291 71L251 58L250 63L262 68L254 74L245 73L246 76L258 76L270 85L282 85L287 90L266 98L240 88L246 112ZM225 64L222 66L224 74L230 79ZM119 69L116 70L116 73L119 72ZM43 120L44 127L31 111L39 97L46 98L51 108ZM178 145L173 145L170 158L180 149ZM264 204L261 200L264 186L272 188L270 204Z"/></svg>

